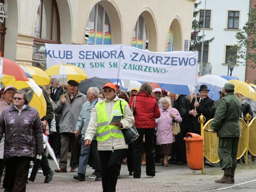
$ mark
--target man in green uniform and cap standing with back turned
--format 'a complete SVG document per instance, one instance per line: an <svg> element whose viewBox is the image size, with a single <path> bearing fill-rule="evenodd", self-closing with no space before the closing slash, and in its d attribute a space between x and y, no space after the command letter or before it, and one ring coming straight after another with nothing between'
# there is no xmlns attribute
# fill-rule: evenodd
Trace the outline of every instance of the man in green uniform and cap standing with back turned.
<svg viewBox="0 0 256 192"><path fill-rule="evenodd" d="M235 85L226 83L223 97L220 99L211 128L219 137L218 155L224 176L216 183L234 183L236 153L240 133L239 117L242 111L241 101L234 95Z"/></svg>

